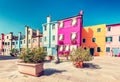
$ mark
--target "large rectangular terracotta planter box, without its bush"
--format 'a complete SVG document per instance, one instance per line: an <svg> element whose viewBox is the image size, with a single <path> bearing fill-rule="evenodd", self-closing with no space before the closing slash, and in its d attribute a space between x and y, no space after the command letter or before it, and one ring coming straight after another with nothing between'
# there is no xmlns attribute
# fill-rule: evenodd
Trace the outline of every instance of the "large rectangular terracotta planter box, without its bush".
<svg viewBox="0 0 120 82"><path fill-rule="evenodd" d="M32 76L40 76L43 74L43 63L23 63L17 62L18 70L20 73Z"/></svg>

